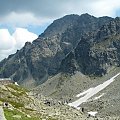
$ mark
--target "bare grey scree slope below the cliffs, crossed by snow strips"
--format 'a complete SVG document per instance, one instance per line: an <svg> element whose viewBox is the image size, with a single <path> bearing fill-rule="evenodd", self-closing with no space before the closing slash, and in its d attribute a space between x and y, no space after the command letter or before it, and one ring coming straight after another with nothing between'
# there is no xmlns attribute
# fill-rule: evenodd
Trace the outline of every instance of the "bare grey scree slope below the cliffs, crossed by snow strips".
<svg viewBox="0 0 120 120"><path fill-rule="evenodd" d="M73 75L59 73L56 76L50 78L42 85L34 89L34 91L40 95L57 99L65 103L72 103L81 98L83 100L84 95L76 97L80 93L84 93L87 90L96 88L95 91L91 91L92 94L96 92L97 86L105 83L111 79L117 73L120 72L119 67L112 68L108 74L103 77L89 77L83 75L80 72L76 72ZM120 119L120 76L109 84L106 88L99 91L94 96L91 96L86 102L83 102L79 107L80 110L84 108L84 112L97 112L96 117L98 120L115 120ZM90 92L88 95L90 96ZM86 98L86 97L85 97Z"/></svg>

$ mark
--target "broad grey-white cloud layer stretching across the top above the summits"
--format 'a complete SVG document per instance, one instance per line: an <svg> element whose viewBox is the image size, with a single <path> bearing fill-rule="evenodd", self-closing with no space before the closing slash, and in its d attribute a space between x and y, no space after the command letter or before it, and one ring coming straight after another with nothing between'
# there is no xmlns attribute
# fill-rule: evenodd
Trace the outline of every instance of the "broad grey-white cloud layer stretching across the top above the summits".
<svg viewBox="0 0 120 120"><path fill-rule="evenodd" d="M117 10L120 8L120 0L37 0L34 3L22 2L19 3L20 5L18 3L10 4L11 6L0 8L1 11L4 10L7 13L1 16L0 23L15 27L26 27L28 25L42 26L66 14L80 15L82 13L89 13L97 17L115 17ZM26 7L23 7L24 5Z"/></svg>

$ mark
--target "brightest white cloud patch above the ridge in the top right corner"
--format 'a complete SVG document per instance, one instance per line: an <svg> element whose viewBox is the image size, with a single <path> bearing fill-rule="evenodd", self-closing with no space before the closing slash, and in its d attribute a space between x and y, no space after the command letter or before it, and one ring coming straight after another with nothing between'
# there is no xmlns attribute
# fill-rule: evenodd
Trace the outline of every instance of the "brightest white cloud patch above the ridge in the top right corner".
<svg viewBox="0 0 120 120"><path fill-rule="evenodd" d="M96 0L90 5L90 13L95 16L116 16L120 8L120 0Z"/></svg>

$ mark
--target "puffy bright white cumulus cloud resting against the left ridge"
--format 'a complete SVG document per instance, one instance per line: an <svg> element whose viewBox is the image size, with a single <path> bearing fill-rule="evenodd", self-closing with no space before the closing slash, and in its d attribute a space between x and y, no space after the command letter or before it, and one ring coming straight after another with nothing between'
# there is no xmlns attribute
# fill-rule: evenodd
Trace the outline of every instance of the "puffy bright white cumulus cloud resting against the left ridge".
<svg viewBox="0 0 120 120"><path fill-rule="evenodd" d="M0 60L21 49L25 42L32 42L37 37L23 28L17 28L13 35L10 35L7 29L0 29Z"/></svg>

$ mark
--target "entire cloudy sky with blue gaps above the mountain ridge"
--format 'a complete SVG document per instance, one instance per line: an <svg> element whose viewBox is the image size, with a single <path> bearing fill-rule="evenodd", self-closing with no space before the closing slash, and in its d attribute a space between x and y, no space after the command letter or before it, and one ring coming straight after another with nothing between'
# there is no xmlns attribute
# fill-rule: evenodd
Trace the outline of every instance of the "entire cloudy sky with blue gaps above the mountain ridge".
<svg viewBox="0 0 120 120"><path fill-rule="evenodd" d="M32 42L55 19L83 13L120 16L120 0L0 0L0 60Z"/></svg>

